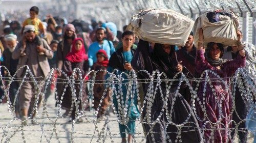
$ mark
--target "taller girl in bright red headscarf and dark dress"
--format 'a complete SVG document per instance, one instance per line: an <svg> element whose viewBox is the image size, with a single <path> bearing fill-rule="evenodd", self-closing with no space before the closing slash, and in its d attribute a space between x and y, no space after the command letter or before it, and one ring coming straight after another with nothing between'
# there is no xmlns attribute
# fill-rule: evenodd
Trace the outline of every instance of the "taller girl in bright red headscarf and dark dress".
<svg viewBox="0 0 256 143"><path fill-rule="evenodd" d="M89 64L88 64L88 56L86 55L86 50L83 47L83 40L81 38L74 39L72 43L72 49L71 52L69 52L66 56L66 61L63 65L63 71L68 75L72 75L73 70L75 68L79 68L82 74L82 77L84 77L88 73ZM75 78L79 79L79 75L76 72ZM81 109L81 100L85 101L87 99L86 94L86 83L82 85L82 87L79 84L79 81L76 81L77 84L75 84L75 91L76 91L76 99L79 101L79 110ZM82 99L79 99L79 91L82 89ZM74 94L74 93L73 93ZM67 100L67 101L64 101ZM64 98L63 98L63 104L62 108L66 108L67 110L70 110L71 104L72 104L72 92L71 87L68 86ZM74 103L73 103L74 104ZM77 104L76 104L77 105ZM78 113L78 111L77 111ZM73 110L71 114L72 120L76 118L76 109L75 104L73 105ZM77 122L80 122L81 120L77 120Z"/></svg>

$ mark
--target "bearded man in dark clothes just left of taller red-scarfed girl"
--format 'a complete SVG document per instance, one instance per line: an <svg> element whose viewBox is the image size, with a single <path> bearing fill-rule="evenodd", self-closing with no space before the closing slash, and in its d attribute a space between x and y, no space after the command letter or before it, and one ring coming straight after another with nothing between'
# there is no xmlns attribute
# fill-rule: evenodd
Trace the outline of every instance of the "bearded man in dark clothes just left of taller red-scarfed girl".
<svg viewBox="0 0 256 143"><path fill-rule="evenodd" d="M72 42L76 38L75 32L76 32L76 29L73 24L69 23L69 24L65 25L64 30L63 30L63 40L58 43L57 54L56 54L57 68L59 70L62 70L63 63L66 60L66 55L71 51ZM65 75L62 75L60 71L57 71L57 75L58 75L58 80L57 80L56 88L57 88L58 95L55 97L58 97L58 99L56 99L57 100L56 106L57 106L57 104L60 104L60 98L63 94L65 85L67 84L67 83L65 83L65 82L67 82L65 80L66 79ZM68 113L69 113L69 108L67 108L67 107L69 107L70 103L71 102L66 97L63 97L61 107L63 109L66 109L65 115L68 115Z"/></svg>

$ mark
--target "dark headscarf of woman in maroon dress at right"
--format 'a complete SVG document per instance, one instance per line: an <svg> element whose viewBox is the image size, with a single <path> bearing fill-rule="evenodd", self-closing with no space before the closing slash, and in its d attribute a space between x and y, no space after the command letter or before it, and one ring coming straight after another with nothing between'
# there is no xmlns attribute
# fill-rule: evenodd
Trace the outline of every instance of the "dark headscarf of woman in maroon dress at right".
<svg viewBox="0 0 256 143"><path fill-rule="evenodd" d="M211 56L210 56L210 51L211 49L214 47L214 44L217 44L218 47L220 48L221 50L221 55L220 55L220 58L218 60L213 60L211 59ZM227 60L224 60L224 59L221 59L222 56L223 56L223 53L224 53L224 47L222 44L220 43L214 43L214 42L210 42L207 44L207 48L205 50L205 59L209 62L210 65L212 66L221 66L222 64L224 64Z"/></svg>

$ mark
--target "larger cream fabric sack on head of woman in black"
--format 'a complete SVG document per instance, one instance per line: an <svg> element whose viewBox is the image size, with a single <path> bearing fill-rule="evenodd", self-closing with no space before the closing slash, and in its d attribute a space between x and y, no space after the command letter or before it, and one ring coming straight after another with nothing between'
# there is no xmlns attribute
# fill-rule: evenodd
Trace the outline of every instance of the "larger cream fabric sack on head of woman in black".
<svg viewBox="0 0 256 143"><path fill-rule="evenodd" d="M173 10L147 8L134 15L128 30L142 40L184 46L194 21Z"/></svg>

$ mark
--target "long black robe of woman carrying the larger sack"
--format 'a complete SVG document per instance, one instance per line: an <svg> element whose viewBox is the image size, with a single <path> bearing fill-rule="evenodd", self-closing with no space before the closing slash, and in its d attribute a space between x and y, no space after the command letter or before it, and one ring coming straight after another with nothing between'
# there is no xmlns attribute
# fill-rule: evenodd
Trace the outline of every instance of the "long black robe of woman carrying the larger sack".
<svg viewBox="0 0 256 143"><path fill-rule="evenodd" d="M164 72L169 79L172 79L177 73L175 70L176 65L173 64L172 58L166 52L164 52L159 44L155 44L152 52L150 50L151 49L148 46L148 42L140 40L138 48L136 49L134 54L132 67L136 71L147 70L151 74L153 73L153 71L159 70L160 72ZM148 76L146 74L140 74L139 76L142 79L148 79ZM154 142L154 140L155 142L169 142L169 139L172 142L175 142L176 137L178 136L178 129L176 126L168 124L184 123L189 116L189 113L189 123L185 124L184 127L182 127L181 138L178 139L178 142L180 142L180 140L182 142L200 142L199 125L197 123L197 119L195 118L193 110L191 110L189 104L179 93L175 94L178 87L177 83L174 83L174 85L172 85L172 87L168 91L168 95L166 95L167 91L165 83L161 82L160 88L156 88L156 83L153 84L154 87L152 89L150 89L149 85L150 84L148 83L148 81L146 83L143 83L145 106L143 108L142 117L143 120L145 120L145 117L150 114L150 121L144 121L147 122L144 125L146 131L151 132L146 136L146 142ZM167 99L167 110L166 107L163 107L164 101L161 97L160 90L162 90L164 98ZM156 94L147 94L148 92L156 92ZM154 99L152 100L152 98ZM174 106L171 109L172 103L174 103ZM169 120L167 120L166 112L170 113L171 111L171 118L168 118ZM160 114L161 112L162 115ZM159 120L155 122L159 116ZM153 126L154 123L155 125ZM188 126L190 127L187 128ZM151 128L153 128L152 131ZM169 139L165 135L166 132Z"/></svg>

